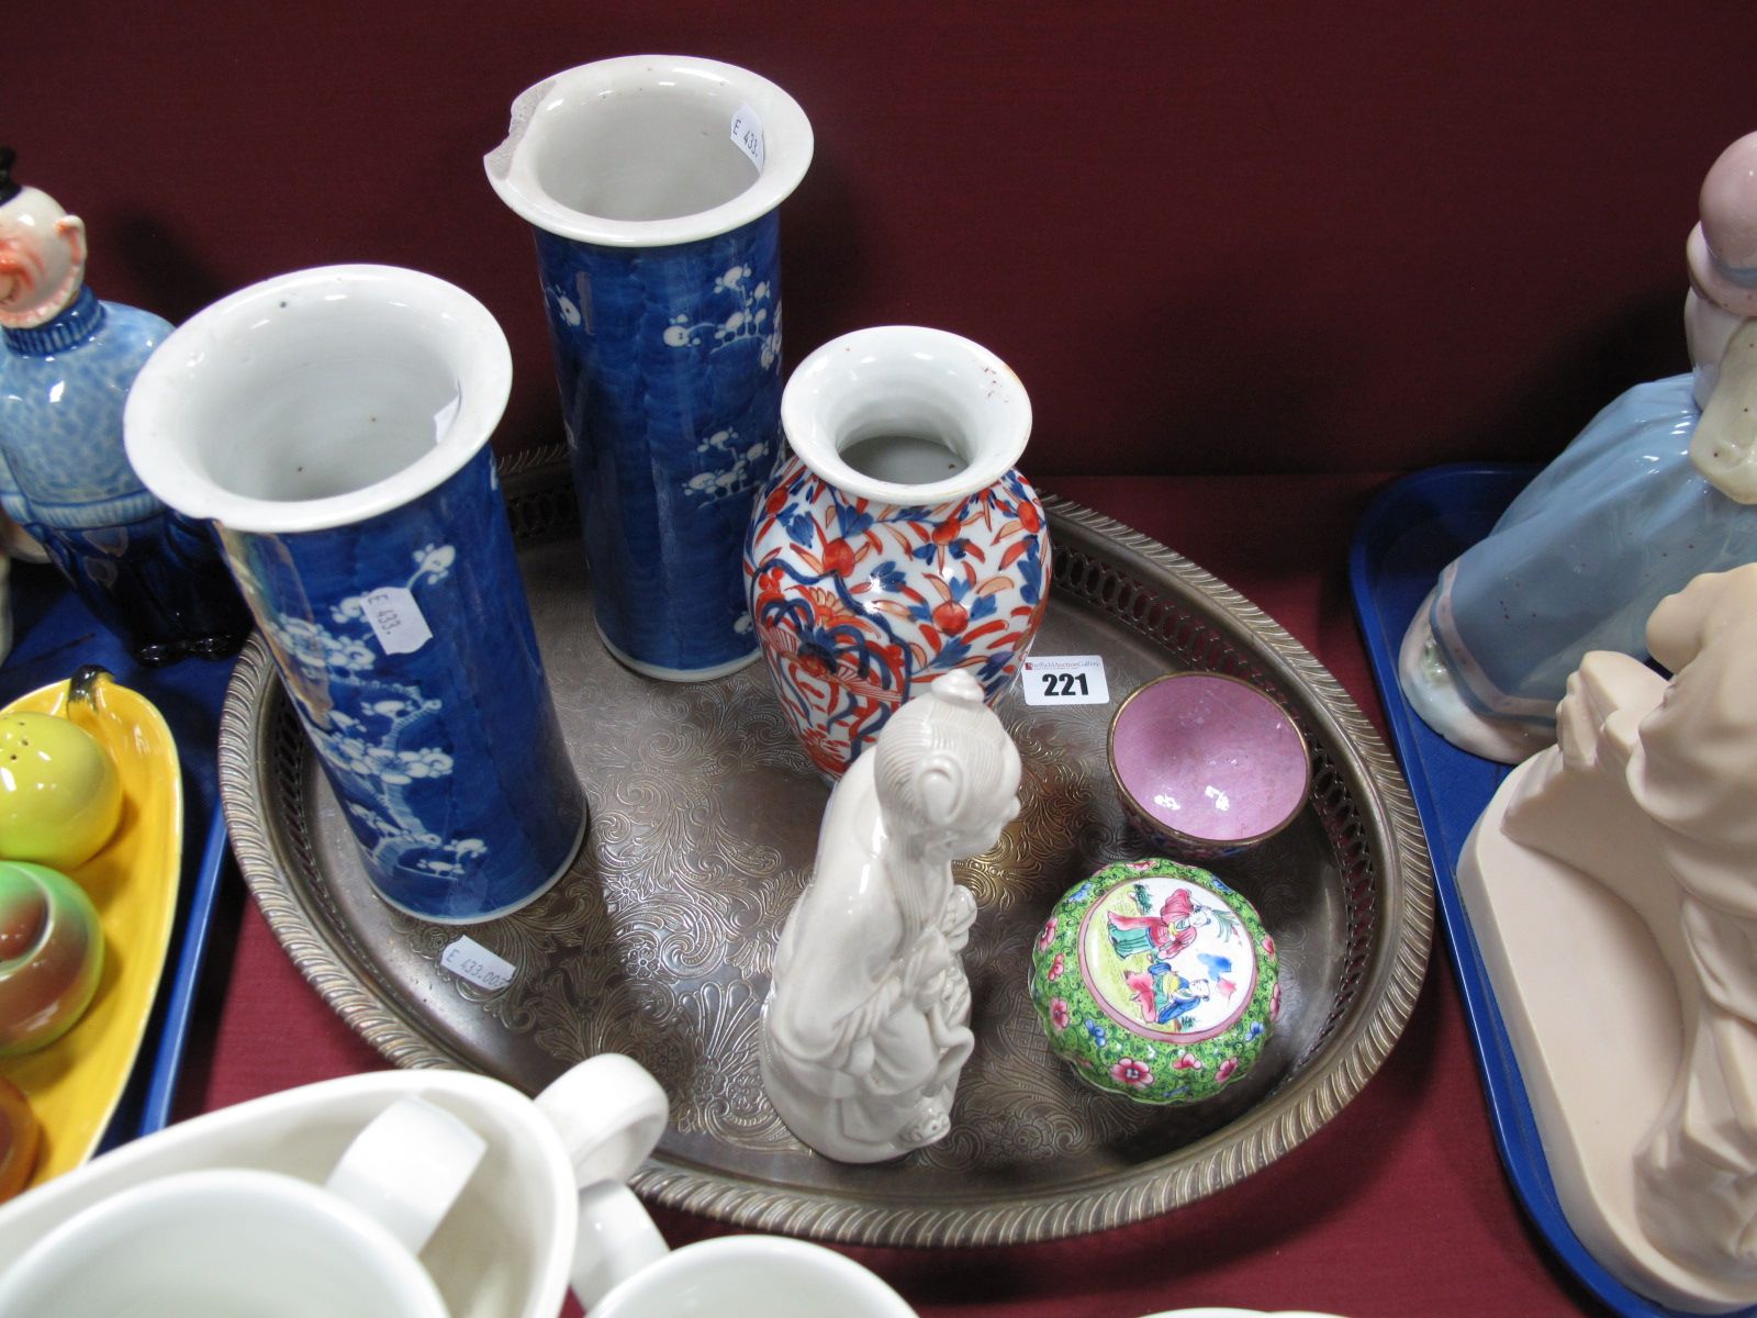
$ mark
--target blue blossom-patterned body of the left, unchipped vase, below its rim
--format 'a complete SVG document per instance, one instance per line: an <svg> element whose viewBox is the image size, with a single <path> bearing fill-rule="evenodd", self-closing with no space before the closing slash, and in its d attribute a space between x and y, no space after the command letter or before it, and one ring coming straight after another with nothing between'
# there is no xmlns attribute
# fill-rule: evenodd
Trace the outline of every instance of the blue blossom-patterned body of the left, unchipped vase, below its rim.
<svg viewBox="0 0 1757 1318"><path fill-rule="evenodd" d="M220 536L380 896L473 923L553 884L585 800L488 450L360 524Z"/></svg>

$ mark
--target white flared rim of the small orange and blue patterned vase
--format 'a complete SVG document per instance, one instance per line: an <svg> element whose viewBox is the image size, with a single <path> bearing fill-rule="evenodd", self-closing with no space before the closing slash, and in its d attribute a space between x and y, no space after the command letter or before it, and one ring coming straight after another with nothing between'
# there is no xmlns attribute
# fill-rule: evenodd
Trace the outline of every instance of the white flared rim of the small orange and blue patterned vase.
<svg viewBox="0 0 1757 1318"><path fill-rule="evenodd" d="M975 452L965 455L961 471L935 482L891 482L842 457L822 402L838 388L859 388L842 362L861 353L868 360L936 353L968 369L965 383L984 395L986 424L972 436ZM986 490L1017 466L1031 438L1031 401L1012 367L973 339L922 325L873 325L835 337L799 362L782 390L780 422L794 457L845 496L886 508L940 508Z"/></svg>

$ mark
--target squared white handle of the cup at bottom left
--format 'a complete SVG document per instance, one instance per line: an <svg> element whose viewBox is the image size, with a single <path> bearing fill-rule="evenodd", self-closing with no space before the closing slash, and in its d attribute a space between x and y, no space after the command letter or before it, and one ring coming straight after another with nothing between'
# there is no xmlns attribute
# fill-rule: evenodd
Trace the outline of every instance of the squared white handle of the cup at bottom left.
<svg viewBox="0 0 1757 1318"><path fill-rule="evenodd" d="M464 1191L488 1142L425 1098L399 1098L362 1130L325 1188L418 1255Z"/></svg>

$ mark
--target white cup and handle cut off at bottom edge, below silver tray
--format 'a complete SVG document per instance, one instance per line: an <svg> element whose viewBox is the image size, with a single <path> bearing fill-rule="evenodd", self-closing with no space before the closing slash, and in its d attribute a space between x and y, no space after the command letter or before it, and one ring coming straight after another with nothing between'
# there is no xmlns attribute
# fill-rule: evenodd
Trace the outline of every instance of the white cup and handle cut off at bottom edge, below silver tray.
<svg viewBox="0 0 1757 1318"><path fill-rule="evenodd" d="M722 1235L668 1249L617 1181L580 1191L573 1293L590 1318L915 1318L852 1258L782 1235Z"/></svg>

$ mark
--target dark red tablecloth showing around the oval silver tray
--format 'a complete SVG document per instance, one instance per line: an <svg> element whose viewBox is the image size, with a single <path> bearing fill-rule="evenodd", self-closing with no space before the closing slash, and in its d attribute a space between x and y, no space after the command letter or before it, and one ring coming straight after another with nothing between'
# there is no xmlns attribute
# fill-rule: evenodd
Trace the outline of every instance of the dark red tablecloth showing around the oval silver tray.
<svg viewBox="0 0 1757 1318"><path fill-rule="evenodd" d="M1045 485L1242 590L1377 721L1342 564L1367 499L1386 480ZM300 979L255 907L241 905L235 952L214 949L216 1023L193 1044L184 1114L383 1065ZM659 1218L675 1244L726 1230ZM924 1318L1137 1318L1195 1304L1348 1318L1592 1311L1551 1269L1502 1177L1441 940L1379 1074L1311 1141L1247 1181L1165 1218L1051 1244L849 1253Z"/></svg>

